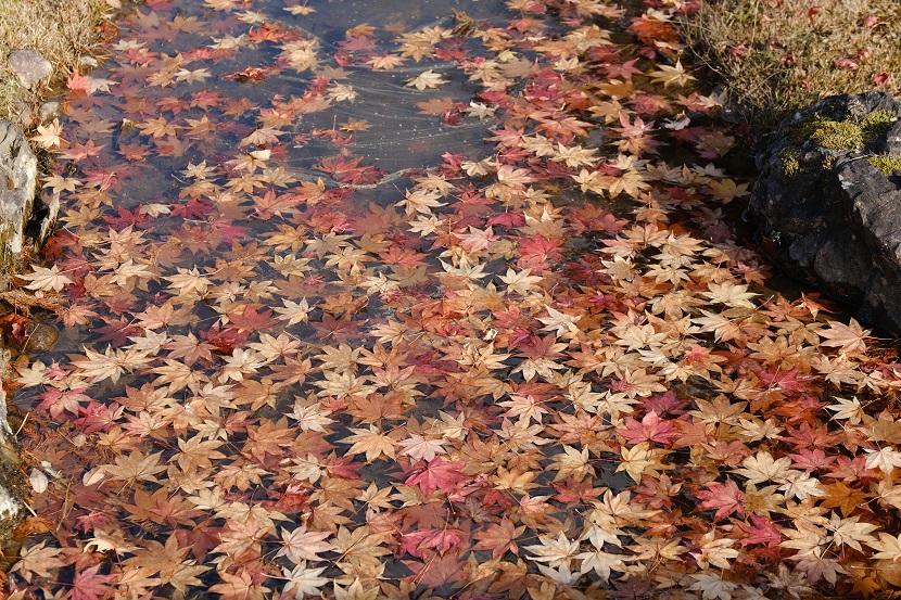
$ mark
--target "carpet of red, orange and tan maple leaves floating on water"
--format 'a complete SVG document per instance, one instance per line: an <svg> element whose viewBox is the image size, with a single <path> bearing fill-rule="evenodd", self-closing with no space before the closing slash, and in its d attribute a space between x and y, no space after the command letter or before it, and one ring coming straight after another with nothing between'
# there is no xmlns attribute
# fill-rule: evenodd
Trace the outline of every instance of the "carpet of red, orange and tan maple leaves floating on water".
<svg viewBox="0 0 901 600"><path fill-rule="evenodd" d="M724 221L747 183L714 164L736 139L685 88L682 4L507 4L330 44L305 4L147 1L69 79L68 124L38 133L59 146L55 260L22 284L84 345L17 362L39 516L10 589L901 583L901 366L813 297L759 295ZM380 73L490 150L372 165L365 119L337 111Z"/></svg>

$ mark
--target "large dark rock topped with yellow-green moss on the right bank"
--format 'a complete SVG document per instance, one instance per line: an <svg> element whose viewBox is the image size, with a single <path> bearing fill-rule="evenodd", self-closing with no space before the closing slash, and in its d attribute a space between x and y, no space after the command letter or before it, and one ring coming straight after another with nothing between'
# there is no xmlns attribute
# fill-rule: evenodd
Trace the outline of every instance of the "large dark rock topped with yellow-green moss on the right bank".
<svg viewBox="0 0 901 600"><path fill-rule="evenodd" d="M901 333L901 102L826 98L779 126L749 215L789 276Z"/></svg>

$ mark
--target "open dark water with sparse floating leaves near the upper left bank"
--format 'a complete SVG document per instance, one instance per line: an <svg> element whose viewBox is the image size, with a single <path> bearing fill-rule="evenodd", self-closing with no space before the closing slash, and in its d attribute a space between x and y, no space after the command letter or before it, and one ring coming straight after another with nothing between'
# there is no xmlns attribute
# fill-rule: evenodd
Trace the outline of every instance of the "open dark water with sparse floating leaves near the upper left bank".
<svg viewBox="0 0 901 600"><path fill-rule="evenodd" d="M125 186L118 200L124 206L132 208L176 191L178 183L172 179L188 163L225 163L238 150L283 145L272 161L301 175L316 175L309 171L321 158L339 152L361 156L364 165L385 173L432 167L445 153L478 159L490 152L483 140L492 122L465 112L478 90L465 74L447 62L429 59L408 61L392 71L373 71L366 61L395 51L396 35L435 25L453 27L447 16L452 10L478 20L497 16L500 7L478 1L381 0L308 5L316 12L292 15L279 2L257 2L251 15L242 18L263 22L261 28L269 18L278 18L285 28L296 27L291 37L303 35L301 39L317 49L312 73L291 68L278 43L230 36L229 27L241 25L234 14L217 21L194 2L177 5L179 17L190 26L168 36L160 33L165 28L158 17L144 16L125 24L124 38L134 28L131 35L141 40L120 42L130 62L117 63L114 56L91 78L129 86L126 101L85 97L73 103L66 124L68 130L90 137L98 145L106 142L97 163L114 162L116 153L128 157L128 151L132 152L128 167L117 165L118 182ZM192 21L198 18L203 21ZM347 27L359 24L355 20L375 29L365 44L354 44L353 37L345 37ZM217 55L223 52L225 58ZM160 80L158 87L142 85L150 72L142 55L168 56L166 60L178 63L169 69L170 81ZM405 87L410 78L430 68L446 81L440 89L422 93ZM149 119L158 120L158 127L134 126ZM254 131L287 122L293 124L293 140L281 132L249 138ZM139 145L148 133L156 151L142 155ZM127 180L138 173L140 181L129 184Z"/></svg>

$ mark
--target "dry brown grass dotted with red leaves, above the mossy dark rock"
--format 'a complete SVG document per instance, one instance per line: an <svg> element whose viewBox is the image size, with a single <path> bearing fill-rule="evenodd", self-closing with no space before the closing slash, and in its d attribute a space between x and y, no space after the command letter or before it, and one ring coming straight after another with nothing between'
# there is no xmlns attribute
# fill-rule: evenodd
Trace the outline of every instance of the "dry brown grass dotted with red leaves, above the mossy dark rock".
<svg viewBox="0 0 901 600"><path fill-rule="evenodd" d="M764 127L826 95L901 89L897 0L708 0L685 33Z"/></svg>

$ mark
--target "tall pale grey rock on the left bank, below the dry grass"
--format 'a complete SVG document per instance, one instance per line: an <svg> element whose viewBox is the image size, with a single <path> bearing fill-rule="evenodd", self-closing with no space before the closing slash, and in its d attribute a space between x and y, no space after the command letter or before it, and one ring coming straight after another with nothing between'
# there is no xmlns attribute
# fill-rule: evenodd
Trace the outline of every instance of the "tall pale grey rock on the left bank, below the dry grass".
<svg viewBox="0 0 901 600"><path fill-rule="evenodd" d="M40 244L56 218L58 197L49 206L40 201L36 206L37 177L38 161L22 128L0 120L0 275L27 243ZM33 240L26 230L36 232Z"/></svg>

